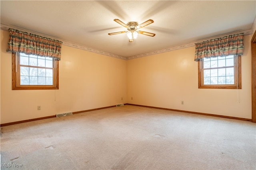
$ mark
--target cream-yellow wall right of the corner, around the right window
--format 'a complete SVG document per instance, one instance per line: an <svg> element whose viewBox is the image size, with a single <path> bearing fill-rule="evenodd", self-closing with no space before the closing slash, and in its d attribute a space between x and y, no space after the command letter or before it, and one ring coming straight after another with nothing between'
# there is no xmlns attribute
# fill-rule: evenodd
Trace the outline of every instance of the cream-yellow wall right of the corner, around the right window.
<svg viewBox="0 0 256 170"><path fill-rule="evenodd" d="M127 102L251 119L250 39L244 36L241 90L198 89L195 48L189 47L127 61Z"/></svg>

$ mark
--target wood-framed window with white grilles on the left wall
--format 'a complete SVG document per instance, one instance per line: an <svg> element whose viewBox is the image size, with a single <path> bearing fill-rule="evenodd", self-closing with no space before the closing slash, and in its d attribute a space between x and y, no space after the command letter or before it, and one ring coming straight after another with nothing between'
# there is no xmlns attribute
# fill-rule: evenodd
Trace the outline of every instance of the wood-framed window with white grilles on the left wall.
<svg viewBox="0 0 256 170"><path fill-rule="evenodd" d="M59 89L58 60L12 53L12 90Z"/></svg>

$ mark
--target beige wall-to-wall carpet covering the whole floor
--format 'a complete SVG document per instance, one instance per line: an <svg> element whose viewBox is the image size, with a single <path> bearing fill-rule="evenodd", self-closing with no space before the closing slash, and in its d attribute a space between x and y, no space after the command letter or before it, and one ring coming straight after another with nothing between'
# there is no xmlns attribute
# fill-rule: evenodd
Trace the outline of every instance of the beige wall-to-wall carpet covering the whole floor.
<svg viewBox="0 0 256 170"><path fill-rule="evenodd" d="M2 127L1 169L255 170L255 148L256 123L125 105Z"/></svg>

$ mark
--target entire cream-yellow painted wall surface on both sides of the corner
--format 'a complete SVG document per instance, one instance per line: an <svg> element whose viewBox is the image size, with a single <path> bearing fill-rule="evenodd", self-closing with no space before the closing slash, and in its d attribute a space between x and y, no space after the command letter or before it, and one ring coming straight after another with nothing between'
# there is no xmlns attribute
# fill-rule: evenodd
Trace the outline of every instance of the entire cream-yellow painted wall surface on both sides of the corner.
<svg viewBox="0 0 256 170"><path fill-rule="evenodd" d="M0 38L1 124L120 103L251 118L251 36L244 37L242 90L198 89L194 47L125 61L64 45L59 90L12 90L9 33Z"/></svg>

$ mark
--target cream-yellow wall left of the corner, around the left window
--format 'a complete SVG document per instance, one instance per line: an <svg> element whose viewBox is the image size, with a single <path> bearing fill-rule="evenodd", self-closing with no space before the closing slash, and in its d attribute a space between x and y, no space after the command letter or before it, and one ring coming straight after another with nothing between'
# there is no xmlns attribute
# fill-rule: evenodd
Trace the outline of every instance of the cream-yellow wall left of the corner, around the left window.
<svg viewBox="0 0 256 170"><path fill-rule="evenodd" d="M12 90L8 39L8 31L1 30L1 123L126 103L125 60L64 45L59 62L59 90Z"/></svg>

